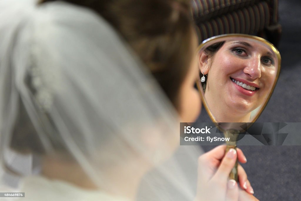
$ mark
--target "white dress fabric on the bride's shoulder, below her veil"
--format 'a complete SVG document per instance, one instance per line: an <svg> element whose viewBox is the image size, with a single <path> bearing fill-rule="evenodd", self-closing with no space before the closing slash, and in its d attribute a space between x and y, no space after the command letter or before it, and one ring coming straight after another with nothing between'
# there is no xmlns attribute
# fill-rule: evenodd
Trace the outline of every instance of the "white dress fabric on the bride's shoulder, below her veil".
<svg viewBox="0 0 301 201"><path fill-rule="evenodd" d="M2 191L2 190L1 190ZM85 190L61 180L49 180L41 176L24 177L18 193L22 198L1 198L1 201L129 201L129 199L109 195L96 190Z"/></svg>

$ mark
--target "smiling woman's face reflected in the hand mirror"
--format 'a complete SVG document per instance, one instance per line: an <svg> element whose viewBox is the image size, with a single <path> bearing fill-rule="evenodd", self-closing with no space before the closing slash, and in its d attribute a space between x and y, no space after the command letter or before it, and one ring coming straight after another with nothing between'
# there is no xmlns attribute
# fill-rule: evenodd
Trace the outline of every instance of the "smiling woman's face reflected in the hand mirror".
<svg viewBox="0 0 301 201"><path fill-rule="evenodd" d="M206 65L200 69L207 74L205 99L209 108L228 112L233 120L250 120L250 112L265 102L272 89L277 62L262 43L225 41L214 55L207 56ZM218 121L233 122L229 117Z"/></svg>

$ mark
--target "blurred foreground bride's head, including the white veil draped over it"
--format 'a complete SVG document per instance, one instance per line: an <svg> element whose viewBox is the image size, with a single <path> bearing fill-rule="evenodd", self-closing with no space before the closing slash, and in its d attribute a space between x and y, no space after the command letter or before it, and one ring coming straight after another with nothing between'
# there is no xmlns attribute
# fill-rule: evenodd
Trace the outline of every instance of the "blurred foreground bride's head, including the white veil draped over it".
<svg viewBox="0 0 301 201"><path fill-rule="evenodd" d="M1 134L11 148L42 155L48 177L73 182L76 173L59 172L79 167L86 175L77 176L96 186L118 183L125 191L122 177L133 181L178 146L178 116L191 122L198 115L197 38L189 4L66 2L29 8L21 28L14 27L17 42L10 38L13 47L0 48L16 52L10 57L0 51L8 58L0 68L7 75L0 89L13 83L0 90L0 118L12 116Z"/></svg>

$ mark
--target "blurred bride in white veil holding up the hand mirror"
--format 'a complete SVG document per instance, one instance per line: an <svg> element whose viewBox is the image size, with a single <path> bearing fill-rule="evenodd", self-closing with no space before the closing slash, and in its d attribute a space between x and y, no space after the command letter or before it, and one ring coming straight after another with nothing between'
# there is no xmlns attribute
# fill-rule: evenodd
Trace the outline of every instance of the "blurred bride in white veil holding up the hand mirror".
<svg viewBox="0 0 301 201"><path fill-rule="evenodd" d="M159 37L150 23L126 35L133 21L108 14L121 11L118 2L108 4L113 7L102 10L103 17L62 1L0 2L0 16L11 19L0 23L0 176L18 174L4 157L13 149L39 161L39 173L22 177L15 190L24 192L23 201L135 200L141 180L164 183L142 192L144 198L155 193L160 200L256 200L241 167L244 190L228 181L236 158L246 162L240 149L225 153L220 146L198 158L194 147L181 147L185 157L174 155L179 122L193 121L200 105L191 56L197 39L185 4L120 2L125 10L137 6L133 17L153 14L160 29L164 20L174 27ZM176 26L180 22L188 29ZM186 177L179 166L184 161L197 181ZM156 173L144 177L154 167Z"/></svg>

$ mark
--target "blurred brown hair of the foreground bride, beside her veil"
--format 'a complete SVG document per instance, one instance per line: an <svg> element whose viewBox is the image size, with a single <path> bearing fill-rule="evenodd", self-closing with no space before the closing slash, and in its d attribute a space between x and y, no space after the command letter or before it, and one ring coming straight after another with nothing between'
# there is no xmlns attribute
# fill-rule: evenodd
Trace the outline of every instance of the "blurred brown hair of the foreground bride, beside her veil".
<svg viewBox="0 0 301 201"><path fill-rule="evenodd" d="M39 4L55 0L42 0ZM190 67L193 22L189 0L65 0L92 9L113 26L146 64L179 110L178 95ZM11 147L44 153L35 129L20 104ZM24 113L24 114L23 114ZM29 137L30 136L30 137ZM51 138L50 138L51 139ZM64 150L64 145L54 147Z"/></svg>

